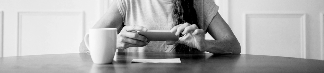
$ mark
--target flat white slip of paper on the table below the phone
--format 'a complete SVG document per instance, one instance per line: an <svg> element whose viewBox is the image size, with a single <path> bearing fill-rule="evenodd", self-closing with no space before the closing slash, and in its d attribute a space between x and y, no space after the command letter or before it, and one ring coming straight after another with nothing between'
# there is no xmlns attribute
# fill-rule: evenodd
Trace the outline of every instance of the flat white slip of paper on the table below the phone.
<svg viewBox="0 0 324 73"><path fill-rule="evenodd" d="M180 58L133 59L132 62L139 62L139 63L181 63Z"/></svg>

